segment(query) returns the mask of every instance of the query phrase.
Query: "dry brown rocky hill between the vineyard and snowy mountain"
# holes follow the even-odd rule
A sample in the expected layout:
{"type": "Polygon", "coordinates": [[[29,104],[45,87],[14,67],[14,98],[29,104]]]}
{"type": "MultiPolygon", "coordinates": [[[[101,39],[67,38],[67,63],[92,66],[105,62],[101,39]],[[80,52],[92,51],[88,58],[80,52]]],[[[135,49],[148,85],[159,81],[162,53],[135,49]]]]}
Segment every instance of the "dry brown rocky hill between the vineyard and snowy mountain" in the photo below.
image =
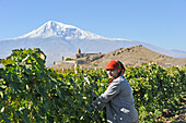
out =
{"type": "MultiPolygon", "coordinates": [[[[119,60],[125,66],[138,66],[143,63],[154,62],[161,66],[183,66],[186,64],[186,58],[175,59],[167,57],[158,52],[154,52],[141,45],[119,48],[108,53],[95,53],[92,56],[84,56],[82,58],[75,59],[78,62],[82,62],[79,65],[82,67],[100,67],[105,69],[106,64],[111,60],[119,60]]],[[[77,63],[78,63],[77,62],[77,63]]],[[[67,69],[73,67],[73,64],[57,64],[53,65],[54,69],[67,69]]]]}

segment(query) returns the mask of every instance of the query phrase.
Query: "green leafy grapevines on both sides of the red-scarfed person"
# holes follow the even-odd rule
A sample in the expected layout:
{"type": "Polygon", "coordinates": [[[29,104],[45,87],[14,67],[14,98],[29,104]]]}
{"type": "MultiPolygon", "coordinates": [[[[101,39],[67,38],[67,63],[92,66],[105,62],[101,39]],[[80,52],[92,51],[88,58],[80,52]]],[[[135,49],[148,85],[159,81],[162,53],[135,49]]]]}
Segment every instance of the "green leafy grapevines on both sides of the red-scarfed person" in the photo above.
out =
{"type": "MultiPolygon", "coordinates": [[[[0,122],[105,122],[91,102],[108,86],[105,70],[77,67],[65,72],[45,66],[40,49],[13,50],[0,61],[0,122]]],[[[141,122],[175,112],[186,90],[186,69],[158,64],[127,67],[141,122]]]]}

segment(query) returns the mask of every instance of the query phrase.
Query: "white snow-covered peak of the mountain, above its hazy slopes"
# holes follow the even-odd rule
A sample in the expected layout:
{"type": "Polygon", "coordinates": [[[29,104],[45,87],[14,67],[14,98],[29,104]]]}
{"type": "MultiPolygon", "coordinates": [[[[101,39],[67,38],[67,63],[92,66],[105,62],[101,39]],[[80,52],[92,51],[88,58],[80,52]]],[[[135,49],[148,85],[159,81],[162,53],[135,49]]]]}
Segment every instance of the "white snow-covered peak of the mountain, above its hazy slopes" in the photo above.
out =
{"type": "Polygon", "coordinates": [[[55,21],[48,21],[37,29],[34,29],[31,33],[20,36],[18,38],[48,37],[61,37],[63,39],[105,39],[102,36],[80,29],[75,26],[67,25],[55,21]]]}

